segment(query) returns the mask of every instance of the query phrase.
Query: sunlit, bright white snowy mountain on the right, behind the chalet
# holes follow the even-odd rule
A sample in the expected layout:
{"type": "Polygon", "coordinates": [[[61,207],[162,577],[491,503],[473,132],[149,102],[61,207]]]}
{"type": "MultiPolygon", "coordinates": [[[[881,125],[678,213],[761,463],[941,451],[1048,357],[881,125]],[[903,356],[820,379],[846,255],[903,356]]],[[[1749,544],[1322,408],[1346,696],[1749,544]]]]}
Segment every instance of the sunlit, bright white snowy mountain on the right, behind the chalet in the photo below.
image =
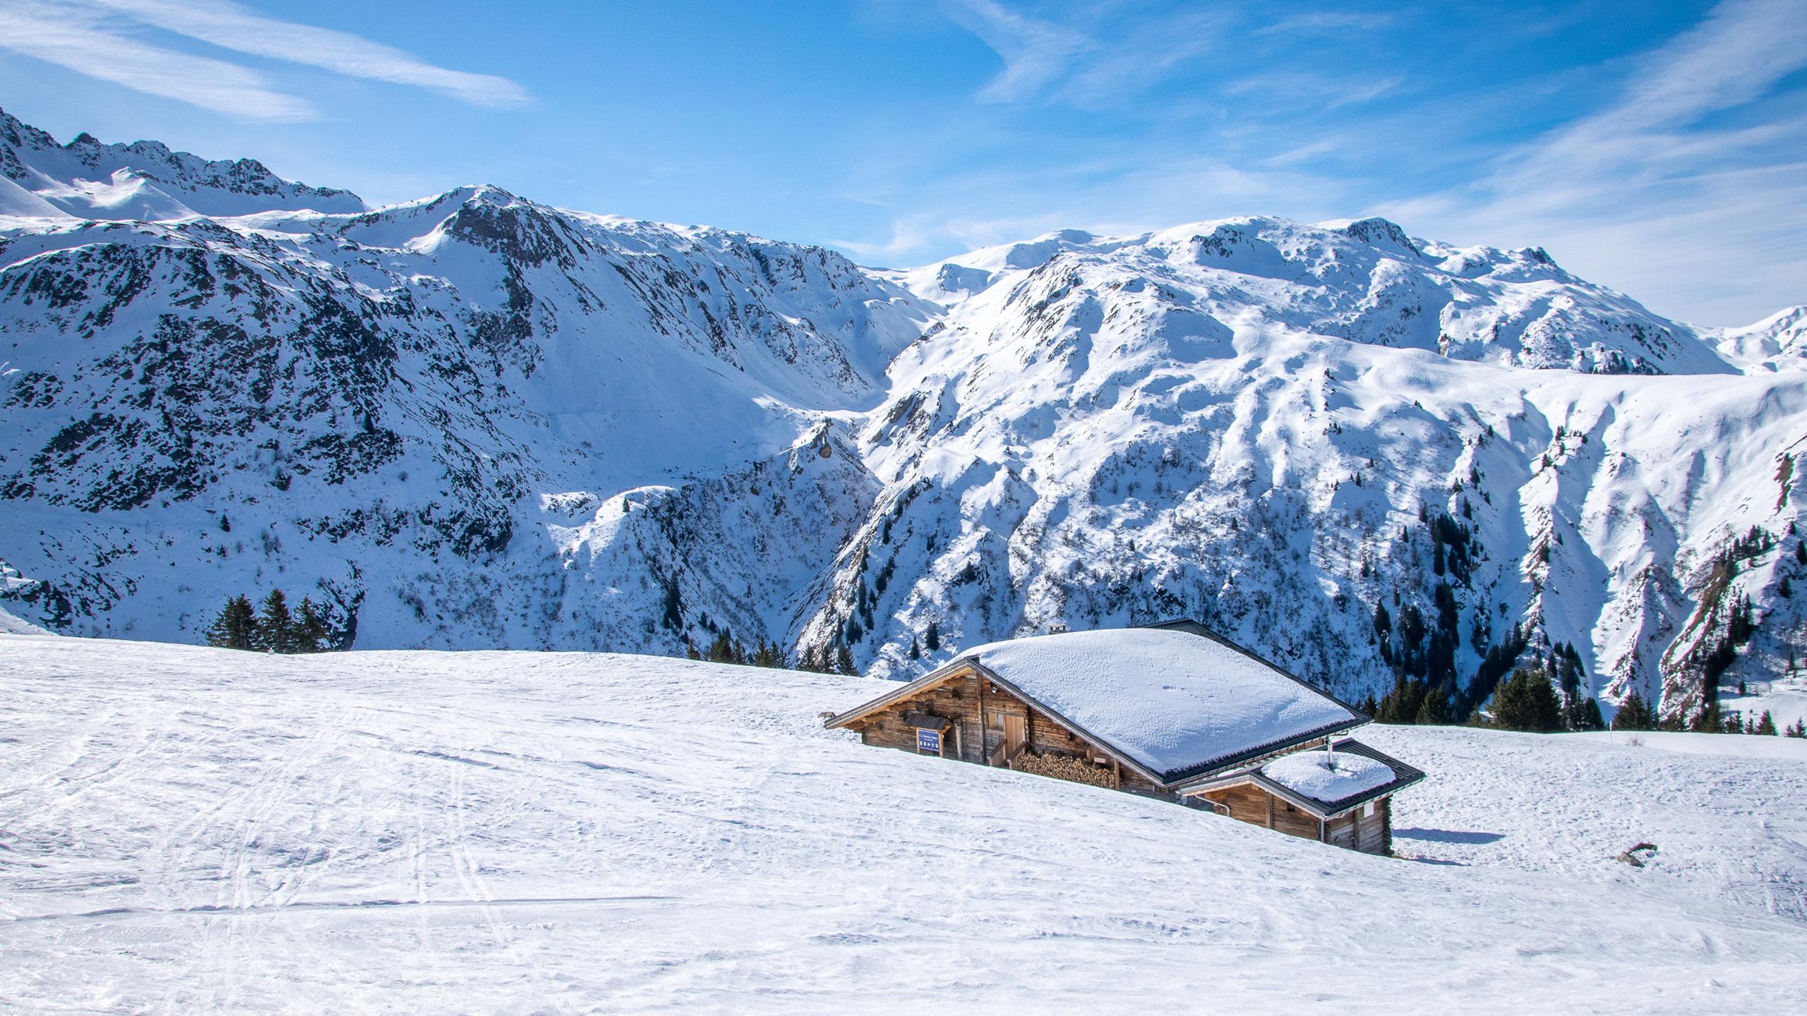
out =
{"type": "Polygon", "coordinates": [[[1740,597],[1762,620],[1727,680],[1802,644],[1807,387],[1541,251],[1236,219],[896,277],[954,304],[893,363],[866,430],[887,486],[810,629],[889,569],[866,613],[911,624],[878,673],[929,620],[960,645],[1189,615],[1357,698],[1402,658],[1384,606],[1433,629],[1408,667],[1433,682],[1437,638],[1460,687],[1527,635],[1576,645],[1585,694],[1684,714],[1740,597]]]}

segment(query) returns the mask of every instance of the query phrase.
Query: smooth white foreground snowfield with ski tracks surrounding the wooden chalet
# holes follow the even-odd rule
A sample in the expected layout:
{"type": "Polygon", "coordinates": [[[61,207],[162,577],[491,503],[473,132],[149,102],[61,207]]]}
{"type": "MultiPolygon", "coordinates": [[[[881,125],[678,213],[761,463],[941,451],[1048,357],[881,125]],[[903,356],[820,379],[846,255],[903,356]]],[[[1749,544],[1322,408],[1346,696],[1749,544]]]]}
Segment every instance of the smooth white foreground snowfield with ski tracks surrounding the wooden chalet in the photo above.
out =
{"type": "Polygon", "coordinates": [[[1717,898],[1798,904],[1802,797],[1709,756],[1388,730],[1433,770],[1409,862],[820,729],[882,687],[0,636],[0,1007],[1646,1014],[1807,983],[1798,909],[1717,898]],[[1635,837],[1650,868],[1610,861],[1635,837]]]}

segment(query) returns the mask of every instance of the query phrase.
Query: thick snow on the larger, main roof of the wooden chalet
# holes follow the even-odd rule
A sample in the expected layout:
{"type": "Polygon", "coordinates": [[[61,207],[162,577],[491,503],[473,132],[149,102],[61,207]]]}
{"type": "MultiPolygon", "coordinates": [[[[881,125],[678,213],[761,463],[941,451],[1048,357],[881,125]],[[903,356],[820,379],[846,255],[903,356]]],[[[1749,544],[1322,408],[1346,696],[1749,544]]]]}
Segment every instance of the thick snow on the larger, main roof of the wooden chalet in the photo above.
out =
{"type": "Polygon", "coordinates": [[[1362,723],[1325,692],[1216,636],[1126,627],[961,653],[1160,776],[1362,723]]]}

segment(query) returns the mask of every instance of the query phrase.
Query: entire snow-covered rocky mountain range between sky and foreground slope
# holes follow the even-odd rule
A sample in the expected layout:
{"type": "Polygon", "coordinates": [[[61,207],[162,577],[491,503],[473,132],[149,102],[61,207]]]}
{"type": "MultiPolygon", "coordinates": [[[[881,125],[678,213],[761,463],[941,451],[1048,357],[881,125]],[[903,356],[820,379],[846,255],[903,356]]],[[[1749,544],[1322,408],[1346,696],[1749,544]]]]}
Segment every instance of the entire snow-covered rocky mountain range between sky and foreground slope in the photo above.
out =
{"type": "Polygon", "coordinates": [[[280,586],[360,647],[905,676],[1196,615],[1344,694],[1572,644],[1673,712],[1807,649],[1800,311],[1697,329],[1381,219],[880,271],[9,118],[0,168],[0,606],[56,631],[280,586]]]}

